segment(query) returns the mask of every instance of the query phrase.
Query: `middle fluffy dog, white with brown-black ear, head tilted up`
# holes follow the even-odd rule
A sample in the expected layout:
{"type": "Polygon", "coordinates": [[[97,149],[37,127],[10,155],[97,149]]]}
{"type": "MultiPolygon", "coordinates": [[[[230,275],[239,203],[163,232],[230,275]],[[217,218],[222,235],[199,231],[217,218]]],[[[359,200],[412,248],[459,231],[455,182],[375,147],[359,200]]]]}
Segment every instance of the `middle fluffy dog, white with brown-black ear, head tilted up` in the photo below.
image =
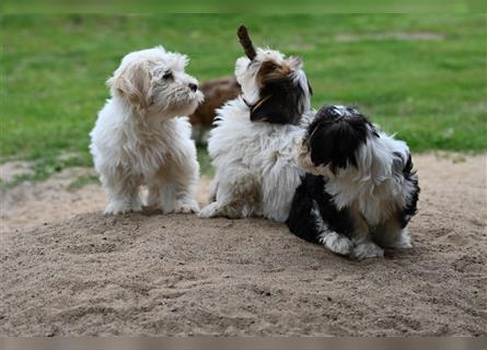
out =
{"type": "MultiPolygon", "coordinates": [[[[241,42],[236,60],[242,95],[218,110],[208,150],[216,176],[200,217],[265,217],[283,222],[303,171],[293,149],[310,110],[310,86],[298,58],[241,42]]],[[[245,32],[246,34],[246,32],[245,32]]],[[[243,37],[244,36],[244,37],[243,37]]]]}

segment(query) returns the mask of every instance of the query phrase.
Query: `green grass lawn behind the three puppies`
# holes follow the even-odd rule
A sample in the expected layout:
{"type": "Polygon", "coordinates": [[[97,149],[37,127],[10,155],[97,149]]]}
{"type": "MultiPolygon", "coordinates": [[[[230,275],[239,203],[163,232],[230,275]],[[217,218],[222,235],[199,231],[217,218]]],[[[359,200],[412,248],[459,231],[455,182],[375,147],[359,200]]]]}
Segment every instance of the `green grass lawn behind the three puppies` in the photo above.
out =
{"type": "Polygon", "coordinates": [[[37,160],[37,178],[91,165],[88,133],[126,52],[163,44],[200,81],[229,75],[242,22],[304,59],[314,107],[358,104],[417,152],[487,149],[485,14],[3,15],[0,162],[37,160]]]}

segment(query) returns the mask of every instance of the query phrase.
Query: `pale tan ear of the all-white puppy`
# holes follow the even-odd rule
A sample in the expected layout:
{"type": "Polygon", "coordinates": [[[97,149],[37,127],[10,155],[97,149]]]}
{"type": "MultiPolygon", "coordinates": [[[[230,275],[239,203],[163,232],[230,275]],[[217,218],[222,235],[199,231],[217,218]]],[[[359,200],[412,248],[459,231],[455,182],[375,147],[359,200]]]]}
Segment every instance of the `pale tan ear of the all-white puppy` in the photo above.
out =
{"type": "Polygon", "coordinates": [[[131,62],[108,79],[112,94],[119,94],[139,109],[150,105],[151,71],[147,62],[131,62]]]}

